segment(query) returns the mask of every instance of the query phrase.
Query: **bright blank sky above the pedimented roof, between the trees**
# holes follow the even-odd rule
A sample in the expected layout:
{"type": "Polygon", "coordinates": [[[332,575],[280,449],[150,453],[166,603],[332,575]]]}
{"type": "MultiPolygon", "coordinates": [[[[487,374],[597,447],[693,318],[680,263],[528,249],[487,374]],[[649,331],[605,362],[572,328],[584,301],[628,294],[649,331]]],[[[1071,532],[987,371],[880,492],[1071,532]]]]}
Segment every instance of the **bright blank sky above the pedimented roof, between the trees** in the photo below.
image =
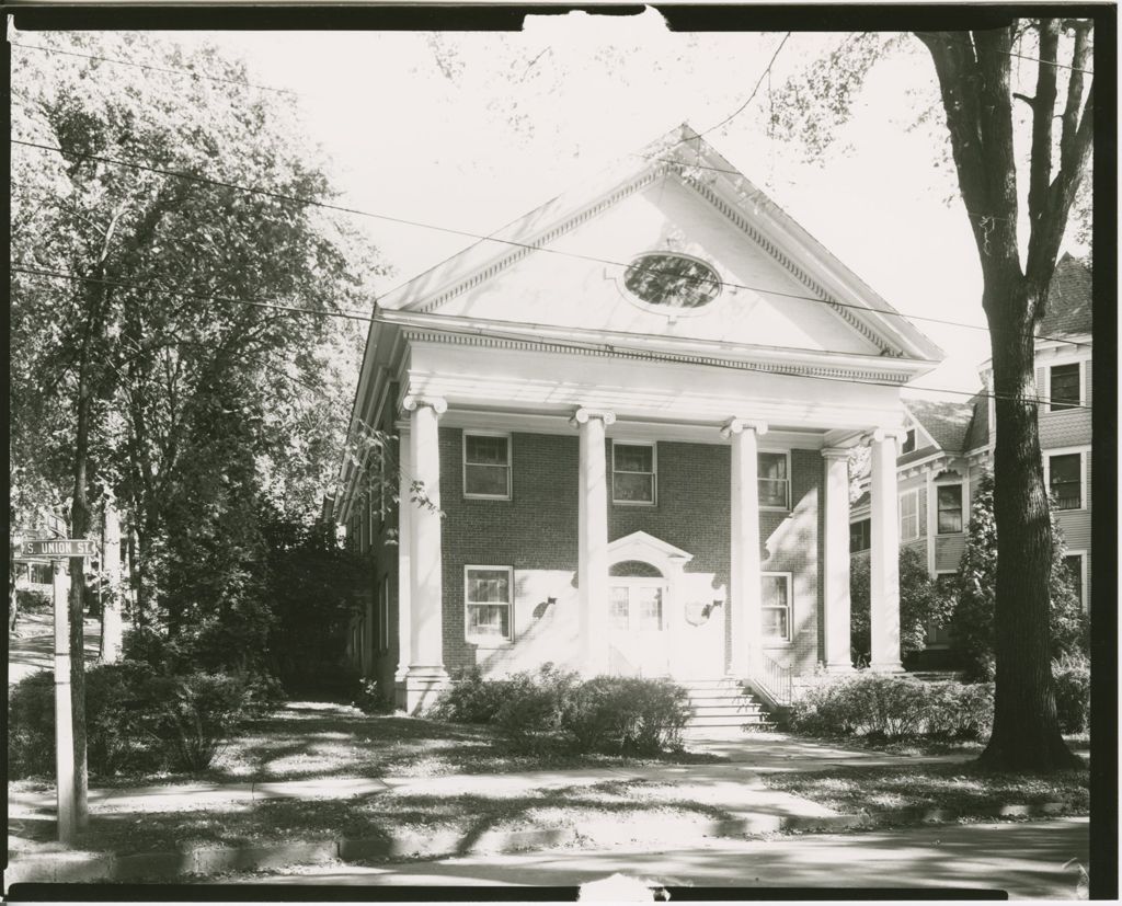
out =
{"type": "MultiPolygon", "coordinates": [[[[296,93],[339,204],[486,234],[689,122],[898,311],[984,325],[977,251],[937,165],[941,122],[910,128],[937,96],[926,50],[909,39],[910,52],[874,66],[836,141],[808,159],[769,135],[769,110],[843,36],[784,34],[673,34],[647,9],[532,16],[521,33],[176,37],[213,41],[247,62],[251,82],[296,93]]],[[[379,293],[471,242],[356,222],[390,267],[379,293]]],[[[947,359],[914,386],[976,389],[987,333],[916,325],[947,359]]]]}

